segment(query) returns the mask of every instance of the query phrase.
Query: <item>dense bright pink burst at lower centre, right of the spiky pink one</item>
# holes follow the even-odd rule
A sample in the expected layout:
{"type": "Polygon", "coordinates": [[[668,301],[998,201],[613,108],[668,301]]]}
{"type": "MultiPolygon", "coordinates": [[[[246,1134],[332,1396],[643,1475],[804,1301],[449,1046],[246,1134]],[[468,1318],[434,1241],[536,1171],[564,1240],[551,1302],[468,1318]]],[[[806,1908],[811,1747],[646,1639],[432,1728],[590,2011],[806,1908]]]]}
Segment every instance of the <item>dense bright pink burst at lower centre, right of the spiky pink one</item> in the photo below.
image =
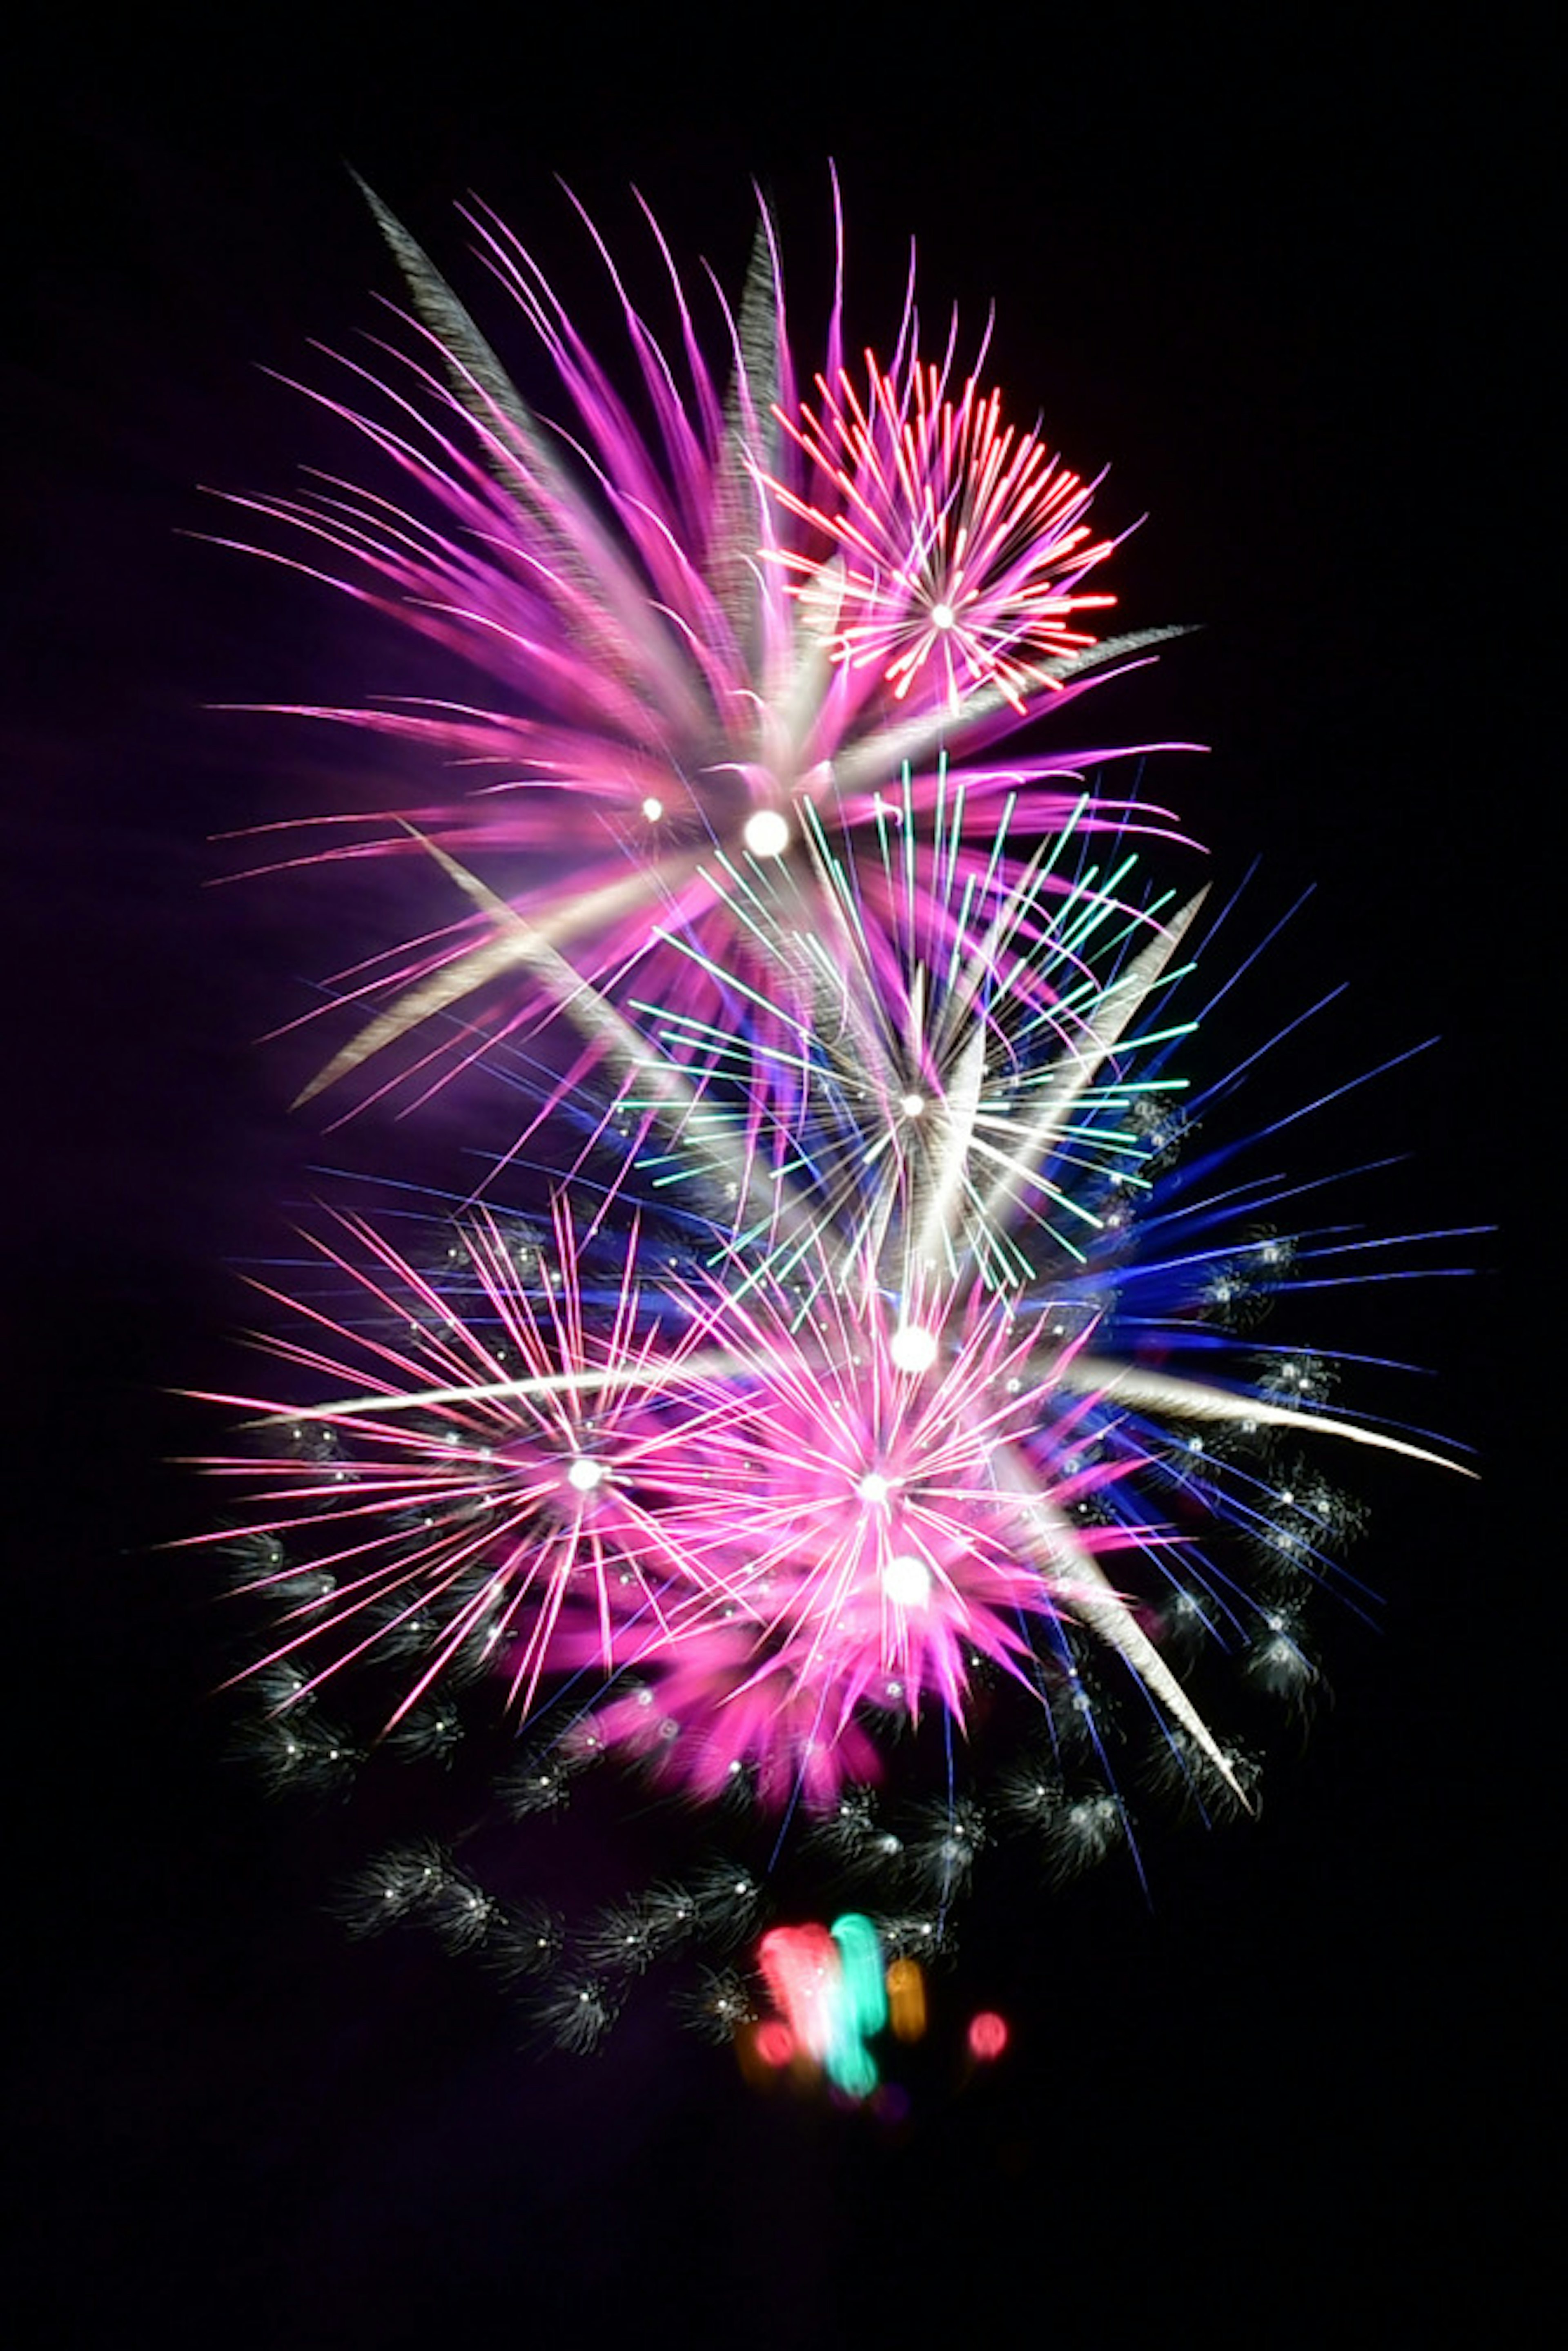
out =
{"type": "Polygon", "coordinates": [[[588,1737],[705,1799],[748,1770],[764,1803],[823,1810],[882,1777],[875,1721],[961,1726],[987,1665],[1041,1697],[1041,1627],[1121,1606],[1098,1559],[1131,1538],[1070,1514],[1133,1458],[1070,1465],[1088,1404],[1065,1352],[980,1293],[903,1312],[867,1265],[809,1310],[731,1293],[719,1333],[736,1411],[710,1413],[672,1509],[703,1606],[623,1648],[637,1686],[588,1737]]]}

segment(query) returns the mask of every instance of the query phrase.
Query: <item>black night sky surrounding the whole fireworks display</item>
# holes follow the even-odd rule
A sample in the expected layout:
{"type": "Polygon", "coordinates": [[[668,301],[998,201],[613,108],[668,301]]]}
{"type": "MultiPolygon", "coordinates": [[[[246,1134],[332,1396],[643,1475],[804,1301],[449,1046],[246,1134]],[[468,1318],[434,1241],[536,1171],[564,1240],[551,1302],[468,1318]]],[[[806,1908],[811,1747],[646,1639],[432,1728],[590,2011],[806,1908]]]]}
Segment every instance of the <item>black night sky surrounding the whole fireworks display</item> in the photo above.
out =
{"type": "Polygon", "coordinates": [[[475,188],[592,327],[552,172],[616,254],[635,179],[731,287],[757,174],[804,334],[832,153],[858,331],[884,331],[910,233],[936,303],[994,296],[1013,407],[1114,461],[1112,520],[1150,513],[1126,623],[1204,623],[1117,722],[1213,743],[1159,785],[1225,879],[1260,853],[1260,905],[1319,884],[1246,1016],[1349,983],[1291,1093],[1443,1037],[1309,1164],[1413,1152],[1366,1199],[1389,1230],[1521,1192],[1542,1213],[1495,1072],[1540,846],[1493,632],[1535,597],[1512,536],[1530,38],[1502,12],[1439,49],[1403,14],[1326,45],[1305,14],[1220,35],[1166,12],[1152,47],[1051,9],[877,35],[649,12],[630,40],[592,9],[259,14],[176,45],[80,19],[24,75],[7,1876],[40,1961],[12,2008],[35,2339],[1133,2342],[1164,2311],[1178,2342],[1420,2342],[1519,2290],[1497,2020],[1530,2005],[1544,1876],[1519,1834],[1544,1561],[1500,1531],[1502,1241],[1460,1244],[1479,1281],[1347,1310],[1434,1366],[1389,1404],[1481,1446],[1486,1491],[1356,1472],[1387,1629],[1326,1613],[1335,1704],[1281,1742],[1262,1824],[1157,1838],[1152,1911],[1107,1876],[983,1937],[966,1982],[1016,2052],[903,2144],[750,2099],[658,2012],[597,2064],[538,2064],[454,1963],[343,1944],[322,1900],[353,1838],[223,1763],[205,1570],[150,1552],[207,1509],[162,1467],[205,1427],[165,1389],[233,1373],[223,1260],[277,1246],[320,1154],[294,1063],[254,1039],[331,962],[331,898],[202,889],[228,870],[209,835],[315,806],[320,773],[205,705],[383,672],[331,600],[181,534],[212,527],[202,482],[341,456],[259,362],[310,371],[310,336],[348,343],[395,292],[343,165],[477,294],[449,209],[475,188]]]}

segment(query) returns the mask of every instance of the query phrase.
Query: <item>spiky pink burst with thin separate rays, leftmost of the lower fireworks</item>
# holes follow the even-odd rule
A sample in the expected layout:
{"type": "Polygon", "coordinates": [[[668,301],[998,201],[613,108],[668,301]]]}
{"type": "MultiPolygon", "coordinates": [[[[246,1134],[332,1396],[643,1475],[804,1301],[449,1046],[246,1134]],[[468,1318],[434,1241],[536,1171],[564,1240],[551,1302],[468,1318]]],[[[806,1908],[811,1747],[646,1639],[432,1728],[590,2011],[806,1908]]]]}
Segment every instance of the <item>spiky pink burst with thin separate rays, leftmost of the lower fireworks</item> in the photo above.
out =
{"type": "MultiPolygon", "coordinates": [[[[280,1300],[320,1335],[263,1342],[327,1380],[334,1401],[292,1413],[266,1396],[212,1399],[261,1413],[287,1444],[282,1458],[207,1465],[261,1493],[247,1531],[287,1540],[310,1528],[315,1568],[329,1578],[324,1599],[289,1608],[261,1667],[303,1660],[317,1686],[357,1657],[397,1653],[411,1629],[425,1662],[397,1721],[475,1660],[503,1667],[527,1712],[541,1676],[564,1662],[567,1599],[578,1615],[588,1606],[604,1672],[625,1662],[621,1627],[646,1615],[668,1639],[668,1601],[689,1578],[661,1498],[689,1476],[682,1451],[724,1396],[701,1387],[698,1321],[672,1340],[639,1326],[637,1232],[590,1324],[581,1239],[559,1201],[552,1253],[522,1244],[531,1274],[494,1218],[465,1230],[477,1291],[468,1314],[371,1225],[341,1227],[353,1255],[336,1241],[315,1248],[350,1302],[324,1312],[280,1300]],[[672,1420],[661,1399],[675,1389],[684,1413],[672,1420]]],[[[261,1578],[261,1589],[268,1582],[287,1596],[287,1573],[261,1578]]]]}

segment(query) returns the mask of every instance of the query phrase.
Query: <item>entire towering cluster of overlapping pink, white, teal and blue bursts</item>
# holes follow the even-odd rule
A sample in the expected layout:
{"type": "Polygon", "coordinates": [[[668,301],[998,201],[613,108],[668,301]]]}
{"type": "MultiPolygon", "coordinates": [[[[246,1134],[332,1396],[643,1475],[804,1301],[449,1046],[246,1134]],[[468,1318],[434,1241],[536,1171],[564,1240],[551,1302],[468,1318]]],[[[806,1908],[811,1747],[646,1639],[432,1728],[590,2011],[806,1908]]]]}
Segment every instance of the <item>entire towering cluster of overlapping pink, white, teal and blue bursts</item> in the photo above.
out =
{"type": "MultiPolygon", "coordinates": [[[[543,426],[374,209],[414,315],[327,404],[409,505],[244,503],[473,682],[306,715],[475,783],[303,851],[463,907],[336,990],[355,1025],[306,1093],[484,1060],[531,1100],[477,1197],[320,1225],[310,1277],[263,1286],[289,1375],[216,1399],[247,1415],[214,1540],[275,1608],[273,1761],[348,1754],[310,1726],[350,1669],[393,1674],[376,1728],[414,1749],[477,1686],[524,1737],[515,1810],[621,1759],[773,1857],[863,1864],[882,1949],[933,1949],[1001,1827],[1053,1871],[1126,1838],[1107,1674],[1201,1808],[1251,1806],[1194,1653],[1302,1697],[1354,1519],[1312,1448],[1441,1455],[1246,1331],[1382,1244],[1281,1232],[1314,1187],[1197,1147],[1215,924],[1145,879],[1166,811],[1088,788],[1126,752],[999,755],[1164,632],[1084,628],[1112,602],[1093,484],[1006,423],[957,324],[926,355],[910,284],[891,360],[851,364],[835,296],[802,395],[766,221],[724,379],[672,263],[679,369],[616,275],[646,440],[477,216],[569,395],[543,426]],[[545,1027],[574,1041],[531,1063],[545,1027]]],[[[762,1878],[722,1862],[592,1923],[548,2029],[592,2045],[628,1970],[736,1942],[762,1878]]],[[[364,1881],[360,1923],[402,1916],[559,1956],[433,1846],[364,1881]]],[[[701,2022],[750,1998],[710,1972],[701,2022]]]]}

